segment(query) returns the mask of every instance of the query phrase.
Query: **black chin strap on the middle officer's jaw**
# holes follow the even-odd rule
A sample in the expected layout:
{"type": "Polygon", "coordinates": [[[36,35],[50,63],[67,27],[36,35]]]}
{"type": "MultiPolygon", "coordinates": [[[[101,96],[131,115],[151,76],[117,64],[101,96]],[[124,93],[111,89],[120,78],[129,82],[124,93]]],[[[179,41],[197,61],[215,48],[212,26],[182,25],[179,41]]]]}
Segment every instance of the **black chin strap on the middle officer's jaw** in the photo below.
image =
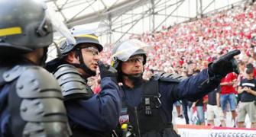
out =
{"type": "Polygon", "coordinates": [[[82,55],[81,49],[76,49],[76,53],[78,54],[80,64],[73,64],[73,65],[75,65],[77,68],[83,69],[83,71],[86,72],[88,77],[95,76],[96,72],[89,69],[86,63],[83,61],[83,55],[82,55]]]}

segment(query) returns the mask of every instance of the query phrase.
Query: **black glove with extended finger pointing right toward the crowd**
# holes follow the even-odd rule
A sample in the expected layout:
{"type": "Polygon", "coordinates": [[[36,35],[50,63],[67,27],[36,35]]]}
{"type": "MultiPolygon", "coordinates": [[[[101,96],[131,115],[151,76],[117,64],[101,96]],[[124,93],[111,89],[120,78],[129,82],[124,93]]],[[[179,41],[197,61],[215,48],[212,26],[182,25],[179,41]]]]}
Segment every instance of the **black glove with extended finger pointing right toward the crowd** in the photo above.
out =
{"type": "Polygon", "coordinates": [[[219,57],[214,62],[208,65],[210,78],[224,78],[230,72],[239,74],[238,62],[234,59],[234,56],[240,54],[240,50],[235,49],[226,53],[224,56],[219,57]]]}

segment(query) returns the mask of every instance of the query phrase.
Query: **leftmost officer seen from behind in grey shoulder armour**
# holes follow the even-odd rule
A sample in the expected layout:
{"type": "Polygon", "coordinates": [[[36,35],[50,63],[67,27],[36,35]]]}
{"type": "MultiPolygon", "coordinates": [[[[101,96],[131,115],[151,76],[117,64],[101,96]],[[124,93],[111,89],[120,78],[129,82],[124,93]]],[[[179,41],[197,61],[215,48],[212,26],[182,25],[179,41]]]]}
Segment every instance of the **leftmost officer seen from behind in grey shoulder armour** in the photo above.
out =
{"type": "Polygon", "coordinates": [[[43,2],[0,2],[0,136],[70,136],[57,80],[40,65],[53,42],[43,2]]]}

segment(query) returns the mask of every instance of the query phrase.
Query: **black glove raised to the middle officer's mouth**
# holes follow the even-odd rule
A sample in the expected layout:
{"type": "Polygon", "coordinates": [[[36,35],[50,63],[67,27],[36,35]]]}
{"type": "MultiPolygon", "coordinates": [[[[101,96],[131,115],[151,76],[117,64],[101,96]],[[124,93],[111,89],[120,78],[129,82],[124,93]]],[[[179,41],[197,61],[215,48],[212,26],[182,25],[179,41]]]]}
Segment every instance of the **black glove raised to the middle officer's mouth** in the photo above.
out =
{"type": "Polygon", "coordinates": [[[104,65],[102,61],[98,61],[100,78],[112,77],[117,78],[118,71],[110,65],[104,65]]]}

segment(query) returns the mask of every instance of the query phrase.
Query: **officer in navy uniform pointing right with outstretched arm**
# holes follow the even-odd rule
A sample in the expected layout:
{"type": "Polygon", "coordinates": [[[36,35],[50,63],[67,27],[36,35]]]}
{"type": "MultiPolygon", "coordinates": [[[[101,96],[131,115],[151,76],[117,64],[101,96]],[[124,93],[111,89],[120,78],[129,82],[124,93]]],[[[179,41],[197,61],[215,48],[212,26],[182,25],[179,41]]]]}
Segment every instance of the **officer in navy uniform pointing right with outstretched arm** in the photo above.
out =
{"type": "Polygon", "coordinates": [[[118,70],[118,81],[123,83],[120,122],[126,136],[179,136],[173,131],[173,102],[196,101],[215,89],[228,72],[238,73],[233,56],[240,51],[235,50],[212,62],[196,76],[183,78],[163,73],[144,81],[142,73],[147,56],[141,45],[138,40],[127,40],[112,50],[112,65],[118,70]],[[128,129],[124,124],[130,125],[126,126],[128,129]]]}

